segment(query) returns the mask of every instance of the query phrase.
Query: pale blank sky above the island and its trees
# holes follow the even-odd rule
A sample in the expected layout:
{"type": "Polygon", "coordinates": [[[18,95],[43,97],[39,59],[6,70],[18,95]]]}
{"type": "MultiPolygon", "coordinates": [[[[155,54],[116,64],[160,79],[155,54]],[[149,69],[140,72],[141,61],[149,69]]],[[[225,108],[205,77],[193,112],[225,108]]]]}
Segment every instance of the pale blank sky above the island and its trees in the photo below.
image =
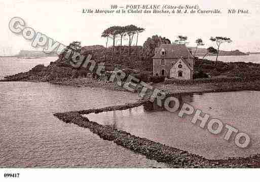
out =
{"type": "MultiPolygon", "coordinates": [[[[113,25],[134,24],[145,28],[138,37],[142,45],[148,37],[158,34],[171,41],[177,35],[188,37],[188,46],[195,46],[201,38],[207,48],[215,46],[210,37],[229,37],[232,43],[221,45],[221,50],[260,52],[260,2],[248,1],[209,1],[209,0],[170,0],[170,1],[89,1],[89,0],[0,0],[1,29],[0,55],[16,54],[20,50],[36,50],[31,42],[21,34],[9,29],[13,17],[21,17],[26,26],[42,32],[64,45],[81,41],[83,46],[105,45],[102,31],[113,25]],[[83,9],[110,10],[111,5],[199,5],[201,9],[220,9],[220,15],[174,15],[174,14],[83,14],[83,9]],[[228,9],[248,9],[250,14],[228,14],[228,9]]],[[[112,42],[109,42],[111,45],[112,42]]],[[[123,44],[127,44],[127,40],[123,44]]],[[[42,50],[38,48],[38,50],[42,50]]]]}

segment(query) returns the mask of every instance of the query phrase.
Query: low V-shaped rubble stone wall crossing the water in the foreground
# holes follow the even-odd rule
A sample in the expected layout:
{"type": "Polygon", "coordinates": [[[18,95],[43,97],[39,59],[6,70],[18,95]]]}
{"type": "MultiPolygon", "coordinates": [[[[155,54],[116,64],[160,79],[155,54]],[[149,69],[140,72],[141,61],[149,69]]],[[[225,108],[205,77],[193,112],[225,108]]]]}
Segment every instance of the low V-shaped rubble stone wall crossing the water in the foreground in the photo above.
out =
{"type": "Polygon", "coordinates": [[[260,155],[254,155],[247,158],[229,158],[227,160],[209,160],[199,155],[169,147],[165,144],[155,142],[147,138],[137,137],[126,131],[117,130],[110,126],[104,126],[96,122],[89,121],[87,117],[82,116],[83,114],[90,113],[126,110],[128,108],[140,106],[144,103],[145,101],[97,109],[93,108],[83,111],[56,113],[54,116],[66,123],[73,123],[80,127],[88,128],[102,139],[114,141],[126,149],[146,156],[148,159],[167,163],[170,167],[174,168],[260,167],[260,155]]]}

